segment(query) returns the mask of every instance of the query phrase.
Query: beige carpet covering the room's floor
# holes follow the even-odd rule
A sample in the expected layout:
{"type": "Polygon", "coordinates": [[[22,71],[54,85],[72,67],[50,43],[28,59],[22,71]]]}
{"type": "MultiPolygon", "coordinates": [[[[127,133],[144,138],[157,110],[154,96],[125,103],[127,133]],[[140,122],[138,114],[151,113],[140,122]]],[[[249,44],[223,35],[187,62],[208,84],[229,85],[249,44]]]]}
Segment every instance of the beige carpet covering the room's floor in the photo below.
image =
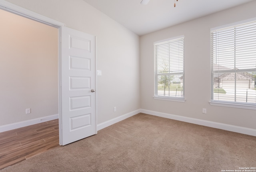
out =
{"type": "Polygon", "coordinates": [[[137,114],[2,171],[222,172],[255,166],[254,136],[137,114]]]}

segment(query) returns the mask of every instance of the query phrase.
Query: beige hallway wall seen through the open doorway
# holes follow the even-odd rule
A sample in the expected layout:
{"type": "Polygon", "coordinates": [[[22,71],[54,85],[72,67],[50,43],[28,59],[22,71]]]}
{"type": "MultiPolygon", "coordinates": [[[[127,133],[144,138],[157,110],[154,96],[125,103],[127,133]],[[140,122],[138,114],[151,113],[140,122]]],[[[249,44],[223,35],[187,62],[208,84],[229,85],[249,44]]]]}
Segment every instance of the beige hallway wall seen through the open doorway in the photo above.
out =
{"type": "Polygon", "coordinates": [[[0,126],[58,114],[58,29],[4,10],[0,22],[0,126]]]}

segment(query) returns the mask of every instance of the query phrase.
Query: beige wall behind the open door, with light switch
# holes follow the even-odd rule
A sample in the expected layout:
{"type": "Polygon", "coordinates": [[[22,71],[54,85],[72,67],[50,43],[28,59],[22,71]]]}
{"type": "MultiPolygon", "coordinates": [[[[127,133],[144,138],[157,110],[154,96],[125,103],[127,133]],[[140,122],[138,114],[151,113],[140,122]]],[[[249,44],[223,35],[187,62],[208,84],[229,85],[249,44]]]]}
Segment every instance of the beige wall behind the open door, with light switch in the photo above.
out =
{"type": "Polygon", "coordinates": [[[139,36],[82,0],[7,1],[97,36],[97,68],[102,70],[96,90],[98,124],[140,108],[139,36]]]}

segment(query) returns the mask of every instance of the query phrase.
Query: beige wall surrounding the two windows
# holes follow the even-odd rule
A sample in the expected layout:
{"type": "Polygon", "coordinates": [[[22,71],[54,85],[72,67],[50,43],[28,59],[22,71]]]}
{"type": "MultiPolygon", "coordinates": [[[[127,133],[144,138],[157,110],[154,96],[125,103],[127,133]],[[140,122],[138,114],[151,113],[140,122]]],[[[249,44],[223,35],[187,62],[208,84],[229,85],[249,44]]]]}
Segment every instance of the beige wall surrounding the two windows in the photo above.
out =
{"type": "MultiPolygon", "coordinates": [[[[255,110],[211,106],[210,28],[256,17],[256,1],[140,38],[141,108],[256,129],[255,110]],[[184,35],[186,102],[154,100],[154,49],[159,40],[184,35]],[[202,108],[207,114],[202,114],[202,108]]],[[[174,16],[175,17],[175,16],[174,16]]]]}

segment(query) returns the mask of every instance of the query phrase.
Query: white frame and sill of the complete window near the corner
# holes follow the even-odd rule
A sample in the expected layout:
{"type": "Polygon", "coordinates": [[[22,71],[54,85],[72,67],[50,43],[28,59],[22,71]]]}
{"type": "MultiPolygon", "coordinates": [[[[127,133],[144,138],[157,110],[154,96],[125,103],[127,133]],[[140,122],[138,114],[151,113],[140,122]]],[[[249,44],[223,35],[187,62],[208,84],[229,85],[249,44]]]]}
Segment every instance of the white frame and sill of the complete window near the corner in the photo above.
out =
{"type": "MultiPolygon", "coordinates": [[[[154,42],[154,96],[153,98],[155,100],[167,100],[167,101],[174,101],[174,102],[185,102],[185,51],[184,51],[184,47],[185,47],[185,38],[184,35],[182,36],[176,36],[173,38],[168,38],[165,40],[160,40],[157,42],[154,42]],[[183,71],[182,71],[182,82],[183,82],[183,96],[182,97],[175,97],[175,96],[159,96],[158,95],[158,74],[156,71],[156,60],[157,60],[157,56],[156,56],[156,44],[160,44],[160,43],[164,43],[164,42],[172,42],[175,40],[179,40],[179,39],[183,39],[183,71]]],[[[175,74],[175,73],[174,73],[175,74]]]]}

